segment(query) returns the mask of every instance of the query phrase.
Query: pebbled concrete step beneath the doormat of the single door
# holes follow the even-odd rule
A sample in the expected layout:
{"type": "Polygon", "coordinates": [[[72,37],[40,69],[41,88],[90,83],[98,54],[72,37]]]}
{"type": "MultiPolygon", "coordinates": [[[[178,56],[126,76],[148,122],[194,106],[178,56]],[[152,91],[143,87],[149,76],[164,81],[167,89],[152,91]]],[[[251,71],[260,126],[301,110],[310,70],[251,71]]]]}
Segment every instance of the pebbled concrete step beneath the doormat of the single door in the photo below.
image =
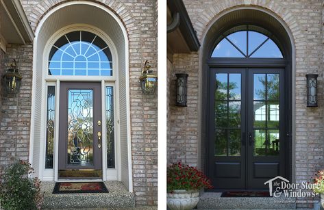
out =
{"type": "Polygon", "coordinates": [[[119,181],[107,181],[109,193],[52,194],[55,182],[42,182],[42,209],[133,208],[135,197],[119,181]]]}

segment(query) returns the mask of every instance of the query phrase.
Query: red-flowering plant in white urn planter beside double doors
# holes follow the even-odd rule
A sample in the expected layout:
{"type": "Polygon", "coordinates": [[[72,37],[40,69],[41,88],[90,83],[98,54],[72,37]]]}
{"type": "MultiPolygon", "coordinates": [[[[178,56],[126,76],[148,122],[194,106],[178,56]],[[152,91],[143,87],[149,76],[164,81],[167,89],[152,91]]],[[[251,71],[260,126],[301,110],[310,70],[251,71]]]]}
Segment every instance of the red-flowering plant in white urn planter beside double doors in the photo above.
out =
{"type": "Polygon", "coordinates": [[[199,202],[199,190],[212,185],[203,172],[195,167],[173,163],[167,168],[167,200],[171,210],[189,210],[199,202]]]}

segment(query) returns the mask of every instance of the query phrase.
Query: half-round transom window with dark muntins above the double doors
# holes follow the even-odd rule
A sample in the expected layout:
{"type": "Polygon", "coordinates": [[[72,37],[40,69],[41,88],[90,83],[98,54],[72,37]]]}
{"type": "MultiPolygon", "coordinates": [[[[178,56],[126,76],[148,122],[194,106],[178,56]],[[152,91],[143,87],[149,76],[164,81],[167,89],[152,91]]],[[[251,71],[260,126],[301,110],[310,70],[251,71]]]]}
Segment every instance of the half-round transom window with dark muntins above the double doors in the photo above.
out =
{"type": "Polygon", "coordinates": [[[211,57],[283,58],[275,36],[255,25],[240,25],[216,40],[211,57]]]}

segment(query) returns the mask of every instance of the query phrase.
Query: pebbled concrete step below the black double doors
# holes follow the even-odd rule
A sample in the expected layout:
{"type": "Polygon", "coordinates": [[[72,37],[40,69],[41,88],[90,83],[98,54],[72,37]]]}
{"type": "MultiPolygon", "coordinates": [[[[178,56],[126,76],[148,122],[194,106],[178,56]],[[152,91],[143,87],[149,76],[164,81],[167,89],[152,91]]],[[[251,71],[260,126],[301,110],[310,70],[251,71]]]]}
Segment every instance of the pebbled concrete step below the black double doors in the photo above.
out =
{"type": "Polygon", "coordinates": [[[221,197],[219,192],[201,195],[197,209],[296,209],[295,198],[221,197]]]}

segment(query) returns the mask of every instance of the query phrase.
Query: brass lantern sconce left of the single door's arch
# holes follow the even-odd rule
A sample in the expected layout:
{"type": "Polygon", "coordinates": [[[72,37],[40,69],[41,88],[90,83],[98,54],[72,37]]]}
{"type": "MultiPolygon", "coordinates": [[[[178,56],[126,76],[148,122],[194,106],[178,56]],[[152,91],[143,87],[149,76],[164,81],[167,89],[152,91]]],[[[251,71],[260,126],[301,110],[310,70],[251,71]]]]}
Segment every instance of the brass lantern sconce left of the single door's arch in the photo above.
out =
{"type": "Polygon", "coordinates": [[[16,66],[16,60],[13,60],[10,66],[11,68],[6,70],[5,75],[3,75],[3,86],[8,94],[16,94],[21,88],[21,79],[23,77],[21,77],[16,66]]]}

